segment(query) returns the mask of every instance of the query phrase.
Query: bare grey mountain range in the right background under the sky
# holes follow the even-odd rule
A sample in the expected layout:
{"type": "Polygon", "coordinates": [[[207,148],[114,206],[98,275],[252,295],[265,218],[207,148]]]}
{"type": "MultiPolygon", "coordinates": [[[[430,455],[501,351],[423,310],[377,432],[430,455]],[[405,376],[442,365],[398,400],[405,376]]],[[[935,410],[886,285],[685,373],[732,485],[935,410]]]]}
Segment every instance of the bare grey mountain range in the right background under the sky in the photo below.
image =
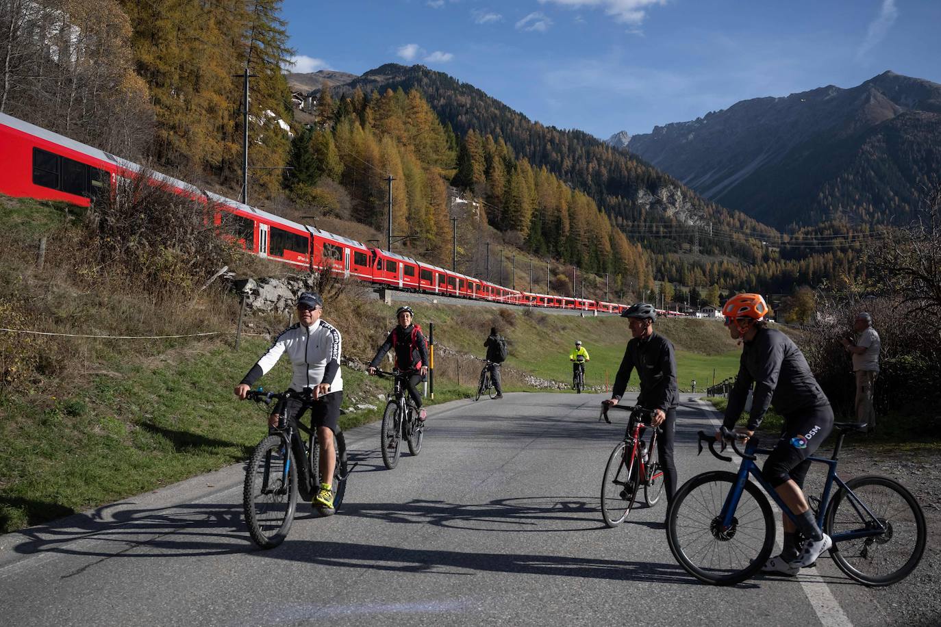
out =
{"type": "Polygon", "coordinates": [[[925,186],[939,182],[939,147],[941,85],[892,71],[848,89],[737,102],[627,145],[702,196],[777,228],[907,223],[925,186]]]}

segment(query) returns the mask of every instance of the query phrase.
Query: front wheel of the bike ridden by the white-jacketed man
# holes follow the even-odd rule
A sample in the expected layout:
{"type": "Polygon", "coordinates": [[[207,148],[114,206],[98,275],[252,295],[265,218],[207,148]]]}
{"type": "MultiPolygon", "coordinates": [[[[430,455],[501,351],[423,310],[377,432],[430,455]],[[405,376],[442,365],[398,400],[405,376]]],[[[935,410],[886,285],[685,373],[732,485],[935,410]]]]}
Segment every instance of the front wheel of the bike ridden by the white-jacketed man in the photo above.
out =
{"type": "Polygon", "coordinates": [[[263,549],[278,546],[291,530],[297,507],[294,454],[280,436],[267,436],[252,451],[242,496],[252,541],[263,549]]]}

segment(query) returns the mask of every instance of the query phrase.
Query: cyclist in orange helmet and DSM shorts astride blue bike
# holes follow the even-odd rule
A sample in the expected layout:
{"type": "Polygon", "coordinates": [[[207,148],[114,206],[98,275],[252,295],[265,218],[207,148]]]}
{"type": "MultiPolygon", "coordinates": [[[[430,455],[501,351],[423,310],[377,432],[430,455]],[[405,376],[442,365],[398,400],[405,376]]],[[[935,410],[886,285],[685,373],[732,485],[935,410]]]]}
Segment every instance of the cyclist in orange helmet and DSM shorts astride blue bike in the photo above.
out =
{"type": "Polygon", "coordinates": [[[737,294],[723,306],[729,335],[732,339],[742,339],[744,345],[739,374],[728,395],[726,419],[716,439],[726,437],[735,426],[753,384],[748,425],[735,431],[743,437],[751,437],[772,403],[784,417],[784,431],[761,468],[761,474],[797,515],[797,527],[788,516],[782,517],[784,550],[769,559],[761,570],[795,575],[833,544],[817,525],[802,491],[810,468],[807,457],[821,446],[833,429],[833,409],[797,345],[782,332],[767,328],[768,312],[768,305],[760,294],[737,294]],[[801,548],[797,546],[797,528],[805,537],[801,548]]]}

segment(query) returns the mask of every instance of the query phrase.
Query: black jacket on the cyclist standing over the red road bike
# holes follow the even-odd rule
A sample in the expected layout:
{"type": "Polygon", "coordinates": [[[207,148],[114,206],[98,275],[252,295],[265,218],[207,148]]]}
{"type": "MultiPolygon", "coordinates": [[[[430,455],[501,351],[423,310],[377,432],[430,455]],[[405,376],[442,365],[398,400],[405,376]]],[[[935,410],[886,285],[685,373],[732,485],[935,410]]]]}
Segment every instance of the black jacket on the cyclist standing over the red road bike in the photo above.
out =
{"type": "Polygon", "coordinates": [[[673,342],[658,333],[646,339],[632,337],[628,348],[617,368],[614,377],[612,398],[620,400],[628,389],[630,370],[637,368],[641,379],[641,394],[638,405],[647,409],[676,409],[679,395],[677,392],[677,359],[674,355],[673,342]]]}

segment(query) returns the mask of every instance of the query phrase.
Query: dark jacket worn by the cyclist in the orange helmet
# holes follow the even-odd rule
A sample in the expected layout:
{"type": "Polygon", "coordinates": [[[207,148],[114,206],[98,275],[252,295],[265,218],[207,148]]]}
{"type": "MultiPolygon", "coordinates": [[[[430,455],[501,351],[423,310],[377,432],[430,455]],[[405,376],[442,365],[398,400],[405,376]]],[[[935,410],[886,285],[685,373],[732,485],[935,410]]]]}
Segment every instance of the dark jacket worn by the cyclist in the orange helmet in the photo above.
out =
{"type": "Polygon", "coordinates": [[[755,339],[744,342],[739,374],[728,395],[723,421],[726,429],[734,427],[742,415],[752,384],[755,384],[755,391],[748,418],[750,431],[758,429],[772,403],[777,413],[785,418],[801,409],[830,404],[807,366],[804,353],[777,329],[758,327],[755,339]]]}

